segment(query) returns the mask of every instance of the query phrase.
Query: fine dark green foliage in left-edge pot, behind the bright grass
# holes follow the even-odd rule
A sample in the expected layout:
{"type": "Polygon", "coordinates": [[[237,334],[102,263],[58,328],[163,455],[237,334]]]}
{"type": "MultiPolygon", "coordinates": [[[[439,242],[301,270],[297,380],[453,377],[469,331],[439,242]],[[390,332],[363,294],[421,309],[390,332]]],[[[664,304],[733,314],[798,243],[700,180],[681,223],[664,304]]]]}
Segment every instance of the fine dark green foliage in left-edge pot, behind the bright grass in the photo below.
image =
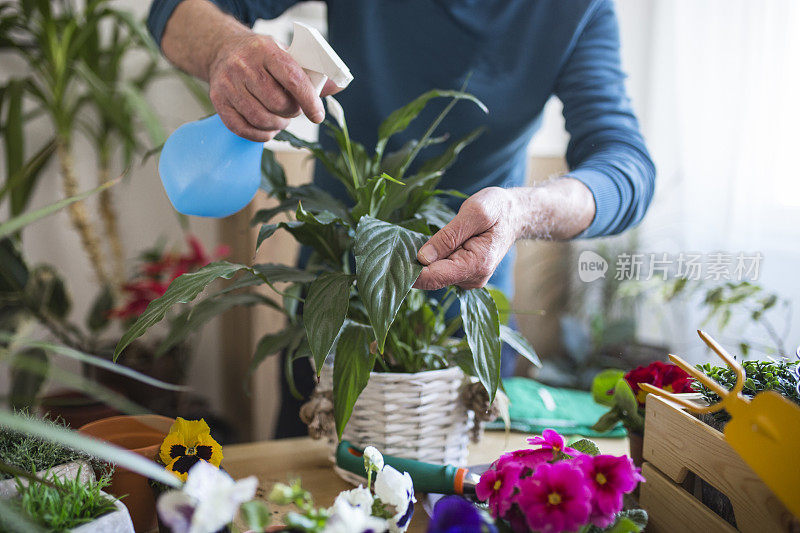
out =
{"type": "MultiPolygon", "coordinates": [[[[23,411],[17,412],[16,416],[29,422],[41,423],[48,428],[66,427],[61,420],[40,419],[23,411]]],[[[90,455],[67,448],[58,442],[0,426],[0,463],[4,465],[26,472],[41,472],[73,461],[86,461],[99,466],[90,455]]],[[[10,477],[12,476],[0,472],[0,479],[10,477]]]]}

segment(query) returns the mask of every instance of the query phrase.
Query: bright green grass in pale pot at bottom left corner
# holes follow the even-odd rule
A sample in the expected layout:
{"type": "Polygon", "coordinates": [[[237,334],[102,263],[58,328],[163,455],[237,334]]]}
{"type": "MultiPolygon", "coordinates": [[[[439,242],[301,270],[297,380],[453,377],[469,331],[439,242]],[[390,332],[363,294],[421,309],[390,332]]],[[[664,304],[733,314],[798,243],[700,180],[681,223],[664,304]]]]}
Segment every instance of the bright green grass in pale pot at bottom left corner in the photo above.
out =
{"type": "Polygon", "coordinates": [[[17,480],[18,495],[12,505],[34,524],[48,531],[134,533],[128,509],[103,492],[109,479],[82,481],[50,476],[23,483],[17,480]]]}

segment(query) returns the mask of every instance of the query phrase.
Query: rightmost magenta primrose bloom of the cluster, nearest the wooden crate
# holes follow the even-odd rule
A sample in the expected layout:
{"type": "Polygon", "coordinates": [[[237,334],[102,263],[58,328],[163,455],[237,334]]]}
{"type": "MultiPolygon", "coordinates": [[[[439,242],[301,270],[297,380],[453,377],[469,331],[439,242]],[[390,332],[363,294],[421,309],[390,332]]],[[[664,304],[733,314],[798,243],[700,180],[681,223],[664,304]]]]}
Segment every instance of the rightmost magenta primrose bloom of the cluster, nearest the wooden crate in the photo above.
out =
{"type": "Polygon", "coordinates": [[[594,498],[591,521],[598,527],[608,527],[614,515],[622,510],[622,496],[633,491],[644,478],[630,457],[623,455],[582,455],[574,463],[583,470],[594,498]]]}

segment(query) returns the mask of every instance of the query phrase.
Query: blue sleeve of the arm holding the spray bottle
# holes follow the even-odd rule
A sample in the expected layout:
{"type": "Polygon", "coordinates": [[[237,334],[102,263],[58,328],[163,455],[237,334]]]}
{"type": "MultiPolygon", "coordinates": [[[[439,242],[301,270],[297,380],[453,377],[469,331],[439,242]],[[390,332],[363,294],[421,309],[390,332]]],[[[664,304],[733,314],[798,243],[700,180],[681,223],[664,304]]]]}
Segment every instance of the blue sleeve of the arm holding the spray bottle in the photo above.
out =
{"type": "MultiPolygon", "coordinates": [[[[153,0],[147,16],[147,28],[161,46],[161,38],[172,12],[183,0],[153,0]]],[[[298,0],[211,0],[222,11],[243,24],[252,26],[256,19],[273,19],[280,16],[298,0]]]]}

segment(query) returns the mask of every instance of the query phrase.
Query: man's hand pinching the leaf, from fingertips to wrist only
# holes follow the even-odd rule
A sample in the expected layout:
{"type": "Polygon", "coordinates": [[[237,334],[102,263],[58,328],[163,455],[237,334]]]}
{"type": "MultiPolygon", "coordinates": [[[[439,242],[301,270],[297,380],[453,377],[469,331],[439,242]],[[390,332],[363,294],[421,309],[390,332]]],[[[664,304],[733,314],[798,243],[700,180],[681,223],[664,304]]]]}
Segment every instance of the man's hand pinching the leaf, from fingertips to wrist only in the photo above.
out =
{"type": "Polygon", "coordinates": [[[521,213],[508,189],[489,187],[467,198],[458,214],[419,250],[423,265],[414,287],[483,287],[517,240],[521,213]]]}

